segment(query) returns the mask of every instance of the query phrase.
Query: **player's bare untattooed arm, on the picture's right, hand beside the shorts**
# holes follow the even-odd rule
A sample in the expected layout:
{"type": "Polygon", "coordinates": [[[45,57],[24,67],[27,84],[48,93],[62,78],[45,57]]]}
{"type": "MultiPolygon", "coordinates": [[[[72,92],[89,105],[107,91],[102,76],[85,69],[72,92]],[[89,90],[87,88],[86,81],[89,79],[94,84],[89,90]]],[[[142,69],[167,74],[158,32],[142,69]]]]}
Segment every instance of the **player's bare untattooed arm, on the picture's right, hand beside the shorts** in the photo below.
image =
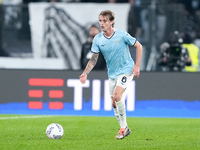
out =
{"type": "Polygon", "coordinates": [[[136,41],[134,44],[134,47],[136,48],[136,63],[134,68],[131,71],[131,74],[134,72],[133,77],[139,77],[140,76],[140,63],[142,60],[142,45],[140,42],[136,41]]]}

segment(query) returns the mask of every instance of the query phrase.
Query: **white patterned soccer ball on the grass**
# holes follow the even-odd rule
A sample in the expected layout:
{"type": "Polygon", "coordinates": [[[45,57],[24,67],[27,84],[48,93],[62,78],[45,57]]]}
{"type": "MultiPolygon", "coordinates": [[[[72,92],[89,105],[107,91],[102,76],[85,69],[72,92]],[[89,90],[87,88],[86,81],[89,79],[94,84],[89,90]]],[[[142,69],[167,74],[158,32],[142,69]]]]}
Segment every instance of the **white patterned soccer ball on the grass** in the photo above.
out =
{"type": "Polygon", "coordinates": [[[58,123],[51,123],[46,129],[46,135],[49,139],[60,139],[63,134],[63,127],[58,123]]]}

